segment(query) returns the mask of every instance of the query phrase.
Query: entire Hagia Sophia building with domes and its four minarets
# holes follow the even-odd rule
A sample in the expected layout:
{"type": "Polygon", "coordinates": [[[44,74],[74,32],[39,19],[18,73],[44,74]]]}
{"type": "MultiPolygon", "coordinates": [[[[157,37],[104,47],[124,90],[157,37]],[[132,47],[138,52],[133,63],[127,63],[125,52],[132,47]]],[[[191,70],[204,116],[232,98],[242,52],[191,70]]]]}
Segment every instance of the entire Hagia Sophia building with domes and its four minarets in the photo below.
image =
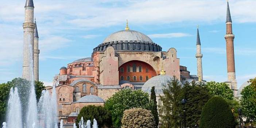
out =
{"type": "MultiPolygon", "coordinates": [[[[23,78],[31,79],[27,68],[30,59],[28,58],[29,51],[26,49],[33,46],[34,79],[38,81],[39,36],[34,22],[33,0],[27,0],[26,7],[28,9],[25,11],[25,23],[23,24],[23,78]]],[[[228,67],[226,83],[230,85],[236,96],[238,89],[234,65],[234,35],[229,3],[225,39],[228,67]]],[[[197,75],[191,75],[186,66],[180,65],[178,51],[175,48],[170,47],[167,51],[162,51],[162,47],[147,35],[131,30],[127,20],[125,29],[106,37],[92,50],[91,57],[68,63],[66,67],[60,68],[58,75],[54,76],[53,86],[56,87],[58,95],[59,120],[62,119],[65,124],[74,123],[81,108],[86,105],[103,106],[109,97],[121,89],[142,89],[150,93],[151,87],[155,86],[156,94],[161,95],[163,85],[173,76],[176,76],[181,84],[186,81],[204,81],[203,55],[198,28],[196,40],[197,75]]],[[[53,86],[47,86],[46,89],[51,91],[53,86]]],[[[161,105],[159,98],[157,100],[161,105]]]]}

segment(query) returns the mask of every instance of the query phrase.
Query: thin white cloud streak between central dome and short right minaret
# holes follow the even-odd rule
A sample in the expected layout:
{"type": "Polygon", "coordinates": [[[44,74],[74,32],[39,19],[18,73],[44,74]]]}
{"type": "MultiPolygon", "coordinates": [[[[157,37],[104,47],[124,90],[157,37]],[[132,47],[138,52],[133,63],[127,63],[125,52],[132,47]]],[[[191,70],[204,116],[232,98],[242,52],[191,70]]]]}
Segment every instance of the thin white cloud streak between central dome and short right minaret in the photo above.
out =
{"type": "Polygon", "coordinates": [[[151,34],[148,36],[150,38],[179,38],[179,37],[185,37],[185,36],[191,36],[191,35],[178,32],[178,33],[166,33],[166,34],[151,34]]]}

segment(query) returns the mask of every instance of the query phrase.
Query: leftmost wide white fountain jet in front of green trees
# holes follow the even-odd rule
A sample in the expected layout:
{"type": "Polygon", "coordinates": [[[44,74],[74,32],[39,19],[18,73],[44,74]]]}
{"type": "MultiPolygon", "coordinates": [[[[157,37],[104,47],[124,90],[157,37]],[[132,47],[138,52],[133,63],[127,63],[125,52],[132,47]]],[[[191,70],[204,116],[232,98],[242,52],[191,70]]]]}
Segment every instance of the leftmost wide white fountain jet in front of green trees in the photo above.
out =
{"type": "MultiPolygon", "coordinates": [[[[10,91],[7,124],[9,128],[22,128],[22,112],[17,88],[14,89],[14,92],[13,88],[10,91]]],[[[4,127],[6,127],[6,124],[4,127]]]]}

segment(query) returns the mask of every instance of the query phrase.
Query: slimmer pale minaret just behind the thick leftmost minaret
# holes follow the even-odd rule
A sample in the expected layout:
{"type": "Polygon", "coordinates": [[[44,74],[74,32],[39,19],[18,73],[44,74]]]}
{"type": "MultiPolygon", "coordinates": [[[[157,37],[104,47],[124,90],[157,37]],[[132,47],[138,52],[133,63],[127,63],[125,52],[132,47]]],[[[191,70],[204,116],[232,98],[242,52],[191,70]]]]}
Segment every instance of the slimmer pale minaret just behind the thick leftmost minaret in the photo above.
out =
{"type": "Polygon", "coordinates": [[[38,31],[35,19],[35,35],[34,35],[34,78],[35,81],[39,81],[39,49],[38,49],[38,31]]]}

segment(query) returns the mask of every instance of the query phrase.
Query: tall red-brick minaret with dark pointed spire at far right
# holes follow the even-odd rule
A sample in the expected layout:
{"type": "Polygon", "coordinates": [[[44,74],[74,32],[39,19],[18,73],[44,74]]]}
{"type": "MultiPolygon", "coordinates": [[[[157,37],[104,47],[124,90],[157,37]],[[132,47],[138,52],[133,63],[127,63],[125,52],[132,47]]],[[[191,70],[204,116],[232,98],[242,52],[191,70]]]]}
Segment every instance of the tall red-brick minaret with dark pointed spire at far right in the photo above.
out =
{"type": "Polygon", "coordinates": [[[226,14],[226,53],[227,53],[227,67],[228,67],[228,81],[231,82],[231,89],[236,95],[237,82],[236,71],[234,63],[234,35],[232,32],[232,20],[229,10],[229,3],[227,2],[227,14],[226,14]]]}

